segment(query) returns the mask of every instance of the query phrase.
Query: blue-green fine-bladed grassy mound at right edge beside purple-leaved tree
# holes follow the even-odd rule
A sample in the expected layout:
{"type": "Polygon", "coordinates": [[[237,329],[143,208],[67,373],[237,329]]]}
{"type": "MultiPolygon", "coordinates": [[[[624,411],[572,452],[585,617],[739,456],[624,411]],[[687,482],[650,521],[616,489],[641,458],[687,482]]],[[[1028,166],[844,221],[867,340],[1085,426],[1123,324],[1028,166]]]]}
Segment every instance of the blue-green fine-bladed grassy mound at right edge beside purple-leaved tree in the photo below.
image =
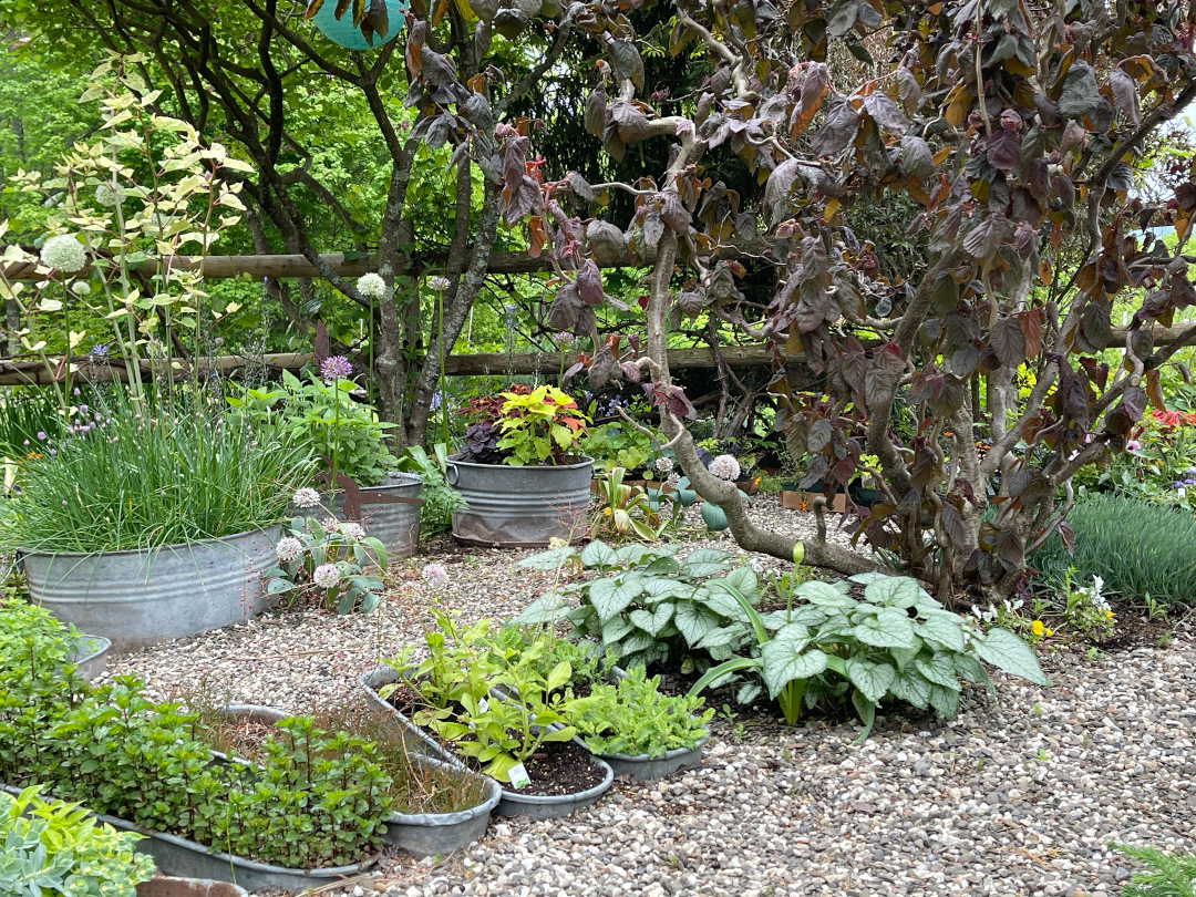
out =
{"type": "Polygon", "coordinates": [[[1030,555],[1037,582],[1060,593],[1067,572],[1104,579],[1105,594],[1165,605],[1196,603],[1196,519],[1171,508],[1121,495],[1093,494],[1067,518],[1075,535],[1068,553],[1058,533],[1030,555]]]}

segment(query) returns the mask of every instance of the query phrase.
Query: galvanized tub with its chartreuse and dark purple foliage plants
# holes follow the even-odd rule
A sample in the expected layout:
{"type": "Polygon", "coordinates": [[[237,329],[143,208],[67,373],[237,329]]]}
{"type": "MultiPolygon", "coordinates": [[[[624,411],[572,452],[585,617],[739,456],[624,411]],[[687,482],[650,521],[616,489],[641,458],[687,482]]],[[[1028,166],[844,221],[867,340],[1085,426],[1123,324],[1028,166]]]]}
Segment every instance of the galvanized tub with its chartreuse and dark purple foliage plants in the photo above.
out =
{"type": "Polygon", "coordinates": [[[576,541],[586,527],[593,460],[581,453],[585,415],[554,386],[513,386],[475,398],[448,483],[466,507],[452,515],[466,544],[537,547],[576,541]]]}

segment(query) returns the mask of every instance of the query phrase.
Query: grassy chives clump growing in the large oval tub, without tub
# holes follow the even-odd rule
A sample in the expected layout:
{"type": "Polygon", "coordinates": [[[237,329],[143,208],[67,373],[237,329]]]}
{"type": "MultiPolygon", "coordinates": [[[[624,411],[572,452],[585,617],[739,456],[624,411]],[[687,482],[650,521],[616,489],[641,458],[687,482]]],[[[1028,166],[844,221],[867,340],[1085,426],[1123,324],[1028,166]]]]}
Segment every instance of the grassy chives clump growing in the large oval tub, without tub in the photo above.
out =
{"type": "Polygon", "coordinates": [[[282,519],[309,453],[206,393],[80,404],[17,472],[0,544],[28,551],[152,549],[282,519]]]}

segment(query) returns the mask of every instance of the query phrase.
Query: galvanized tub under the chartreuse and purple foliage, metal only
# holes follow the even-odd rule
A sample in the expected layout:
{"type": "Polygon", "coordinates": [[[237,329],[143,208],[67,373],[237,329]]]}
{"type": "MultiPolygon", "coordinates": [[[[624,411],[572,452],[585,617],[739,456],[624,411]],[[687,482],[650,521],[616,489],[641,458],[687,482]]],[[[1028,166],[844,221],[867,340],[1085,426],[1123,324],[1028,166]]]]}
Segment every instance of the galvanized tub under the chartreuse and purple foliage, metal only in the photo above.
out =
{"type": "Polygon", "coordinates": [[[452,515],[452,535],[470,545],[539,548],[549,539],[578,541],[586,531],[593,458],[560,466],[475,464],[453,454],[448,484],[465,500],[452,515]]]}

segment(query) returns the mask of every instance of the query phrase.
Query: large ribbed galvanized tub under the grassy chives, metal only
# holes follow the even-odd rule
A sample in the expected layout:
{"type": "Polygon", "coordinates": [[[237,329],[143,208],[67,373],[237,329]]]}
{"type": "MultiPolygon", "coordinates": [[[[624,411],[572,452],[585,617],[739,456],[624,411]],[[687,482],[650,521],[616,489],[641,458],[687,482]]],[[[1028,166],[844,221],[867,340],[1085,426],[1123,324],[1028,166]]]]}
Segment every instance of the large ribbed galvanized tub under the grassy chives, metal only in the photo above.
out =
{"type": "Polygon", "coordinates": [[[267,606],[262,572],[279,527],[100,554],[25,554],[33,604],[117,651],[239,623],[267,606]]]}

